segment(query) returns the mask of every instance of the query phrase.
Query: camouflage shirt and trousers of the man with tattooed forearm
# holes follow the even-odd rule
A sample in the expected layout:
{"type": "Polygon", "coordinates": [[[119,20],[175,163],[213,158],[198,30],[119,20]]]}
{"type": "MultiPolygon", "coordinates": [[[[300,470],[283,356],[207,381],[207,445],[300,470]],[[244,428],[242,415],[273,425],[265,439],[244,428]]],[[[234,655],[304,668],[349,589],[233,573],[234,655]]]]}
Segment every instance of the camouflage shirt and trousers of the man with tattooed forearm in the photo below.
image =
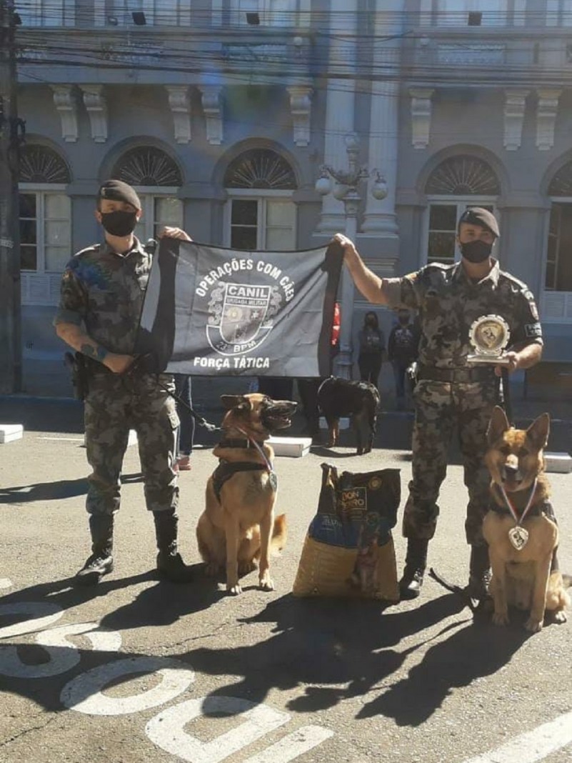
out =
{"type": "MultiPolygon", "coordinates": [[[[54,324],[84,324],[88,335],[111,353],[133,354],[152,259],[137,239],[123,256],[107,243],[77,253],[63,274],[54,324]]],[[[156,375],[118,375],[90,359],[88,369],[85,446],[93,469],[88,512],[111,514],[119,508],[130,429],[137,432],[147,509],[175,510],[175,401],[159,387],[156,375]]],[[[175,391],[171,375],[159,375],[159,381],[175,391]]]]}

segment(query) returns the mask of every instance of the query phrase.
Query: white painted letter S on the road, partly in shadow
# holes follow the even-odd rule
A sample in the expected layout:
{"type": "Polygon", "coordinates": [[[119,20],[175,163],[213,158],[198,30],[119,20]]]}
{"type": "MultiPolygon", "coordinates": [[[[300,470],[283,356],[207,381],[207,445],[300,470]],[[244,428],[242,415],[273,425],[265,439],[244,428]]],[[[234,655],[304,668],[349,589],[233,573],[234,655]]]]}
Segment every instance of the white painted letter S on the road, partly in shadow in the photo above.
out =
{"type": "Polygon", "coordinates": [[[76,623],[37,633],[34,641],[42,645],[49,656],[48,662],[28,665],[22,662],[15,646],[0,646],[0,674],[11,678],[50,678],[74,668],[81,658],[79,650],[66,636],[85,633],[95,651],[116,652],[121,647],[121,635],[116,631],[98,630],[98,623],[76,623]]]}

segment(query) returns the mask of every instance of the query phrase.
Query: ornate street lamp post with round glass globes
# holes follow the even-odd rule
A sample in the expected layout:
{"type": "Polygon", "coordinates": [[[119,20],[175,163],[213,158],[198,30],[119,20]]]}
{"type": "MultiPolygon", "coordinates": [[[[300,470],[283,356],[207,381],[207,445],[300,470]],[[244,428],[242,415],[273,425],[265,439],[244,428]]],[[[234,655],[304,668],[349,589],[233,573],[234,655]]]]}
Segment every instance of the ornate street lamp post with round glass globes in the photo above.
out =
{"type": "MultiPolygon", "coordinates": [[[[359,137],[355,133],[345,136],[345,150],[348,154],[348,171],[333,169],[328,164],[320,166],[320,177],[316,182],[316,190],[326,196],[332,193],[338,201],[343,201],[345,215],[345,235],[355,241],[358,233],[358,209],[362,197],[359,195],[359,185],[363,180],[374,175],[371,193],[374,198],[384,199],[387,196],[386,182],[378,169],[371,172],[365,167],[358,166],[359,137]],[[332,184],[333,181],[333,184],[332,184]]],[[[352,319],[354,304],[354,282],[348,269],[342,271],[342,325],[339,331],[339,355],[337,356],[338,373],[342,378],[352,378],[352,319]]]]}

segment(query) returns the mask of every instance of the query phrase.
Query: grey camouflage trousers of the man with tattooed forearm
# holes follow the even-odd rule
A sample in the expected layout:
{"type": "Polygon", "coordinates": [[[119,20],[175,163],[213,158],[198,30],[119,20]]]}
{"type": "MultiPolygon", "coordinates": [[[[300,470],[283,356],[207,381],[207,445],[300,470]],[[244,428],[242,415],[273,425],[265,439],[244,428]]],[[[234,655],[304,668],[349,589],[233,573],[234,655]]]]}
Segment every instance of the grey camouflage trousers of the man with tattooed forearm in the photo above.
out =
{"type": "MultiPolygon", "coordinates": [[[[159,380],[175,391],[172,377],[159,380]]],[[[88,477],[89,513],[113,513],[120,506],[121,468],[129,430],[137,432],[146,507],[175,509],[178,504],[175,401],[157,385],[156,376],[138,378],[98,373],[89,378],[85,398],[85,447],[93,472],[88,477]]]]}

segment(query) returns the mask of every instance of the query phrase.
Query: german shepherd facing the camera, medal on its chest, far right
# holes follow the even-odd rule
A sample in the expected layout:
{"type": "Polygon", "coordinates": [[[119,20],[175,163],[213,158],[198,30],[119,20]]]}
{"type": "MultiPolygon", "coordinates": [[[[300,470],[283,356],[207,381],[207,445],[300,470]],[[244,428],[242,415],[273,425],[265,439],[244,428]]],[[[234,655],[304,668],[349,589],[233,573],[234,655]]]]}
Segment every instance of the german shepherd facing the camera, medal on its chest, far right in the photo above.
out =
{"type": "Polygon", "coordinates": [[[570,578],[551,571],[558,525],[548,501],[550,487],[542,457],[549,429],[548,414],[541,414],[527,430],[514,429],[497,406],[485,456],[495,504],[483,523],[493,571],[493,623],[506,625],[508,608],[516,607],[529,611],[525,628],[532,633],[541,630],[545,613],[554,622],[564,623],[564,609],[570,606],[566,591],[570,578]]]}

